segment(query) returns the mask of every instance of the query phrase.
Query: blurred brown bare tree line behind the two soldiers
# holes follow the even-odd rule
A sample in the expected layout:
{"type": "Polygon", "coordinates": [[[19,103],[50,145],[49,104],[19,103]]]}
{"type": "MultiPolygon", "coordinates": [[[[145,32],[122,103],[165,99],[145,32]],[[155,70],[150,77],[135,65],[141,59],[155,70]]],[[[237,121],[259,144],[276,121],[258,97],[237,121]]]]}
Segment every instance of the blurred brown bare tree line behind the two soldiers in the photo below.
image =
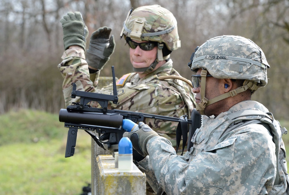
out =
{"type": "Polygon", "coordinates": [[[210,38],[240,35],[259,45],[271,68],[268,85],[253,100],[276,118],[289,119],[289,0],[0,0],[0,114],[18,107],[58,113],[65,107],[57,65],[64,51],[59,21],[68,11],[82,13],[89,34],[112,27],[116,49],[101,76],[111,76],[114,65],[119,78],[132,72],[128,46],[119,36],[127,12],[152,4],[177,19],[181,48],[171,58],[187,79],[192,52],[210,38]]]}

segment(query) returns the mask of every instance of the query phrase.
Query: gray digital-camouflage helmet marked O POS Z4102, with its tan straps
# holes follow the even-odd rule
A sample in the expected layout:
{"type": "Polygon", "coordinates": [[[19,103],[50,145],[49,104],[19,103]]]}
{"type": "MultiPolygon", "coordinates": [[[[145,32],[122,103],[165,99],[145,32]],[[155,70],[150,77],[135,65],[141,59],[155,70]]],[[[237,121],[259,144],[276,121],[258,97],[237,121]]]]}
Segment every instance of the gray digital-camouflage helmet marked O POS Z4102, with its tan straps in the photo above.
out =
{"type": "Polygon", "coordinates": [[[201,71],[201,83],[205,83],[207,73],[217,79],[244,79],[242,87],[217,96],[205,98],[205,84],[201,84],[201,103],[196,107],[204,114],[206,106],[235,96],[247,89],[252,94],[267,84],[267,68],[270,68],[265,54],[250,39],[241,36],[218,36],[197,47],[192,53],[188,66],[193,72],[201,71]]]}

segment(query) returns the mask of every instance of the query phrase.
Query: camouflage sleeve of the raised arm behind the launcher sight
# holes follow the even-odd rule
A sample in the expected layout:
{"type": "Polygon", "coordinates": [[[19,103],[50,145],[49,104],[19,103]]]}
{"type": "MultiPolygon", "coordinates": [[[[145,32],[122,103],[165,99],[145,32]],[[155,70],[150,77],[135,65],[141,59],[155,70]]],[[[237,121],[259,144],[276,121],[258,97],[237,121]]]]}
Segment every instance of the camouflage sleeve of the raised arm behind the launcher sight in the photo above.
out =
{"type": "Polygon", "coordinates": [[[91,81],[84,50],[80,47],[67,49],[61,58],[62,62],[58,64],[58,68],[64,78],[62,88],[65,105],[68,106],[79,101],[79,97],[71,99],[72,83],[76,83],[77,90],[95,92],[100,71],[94,74],[91,81]]]}

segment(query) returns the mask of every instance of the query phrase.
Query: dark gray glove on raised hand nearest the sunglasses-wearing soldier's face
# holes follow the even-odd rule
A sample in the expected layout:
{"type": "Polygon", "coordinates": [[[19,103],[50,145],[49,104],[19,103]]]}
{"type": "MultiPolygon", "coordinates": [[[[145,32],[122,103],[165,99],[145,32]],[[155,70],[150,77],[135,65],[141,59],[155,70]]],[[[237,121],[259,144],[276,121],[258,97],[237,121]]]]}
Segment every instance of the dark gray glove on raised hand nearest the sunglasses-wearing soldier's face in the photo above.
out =
{"type": "Polygon", "coordinates": [[[86,53],[86,62],[89,66],[102,69],[114,52],[114,36],[110,38],[111,28],[102,27],[94,31],[90,37],[89,48],[86,53]]]}

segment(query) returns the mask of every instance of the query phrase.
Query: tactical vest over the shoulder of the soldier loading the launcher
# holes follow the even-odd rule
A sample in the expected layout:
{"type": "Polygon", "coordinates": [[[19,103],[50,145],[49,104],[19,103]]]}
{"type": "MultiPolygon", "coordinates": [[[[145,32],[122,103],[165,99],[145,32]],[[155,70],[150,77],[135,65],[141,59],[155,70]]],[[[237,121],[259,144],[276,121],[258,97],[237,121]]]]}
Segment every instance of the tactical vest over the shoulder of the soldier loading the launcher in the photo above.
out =
{"type": "MultiPolygon", "coordinates": [[[[272,194],[277,194],[281,189],[284,188],[283,185],[287,185],[286,194],[289,194],[289,175],[287,173],[287,162],[285,160],[286,151],[284,142],[282,140],[282,135],[287,134],[286,128],[282,128],[280,123],[274,119],[272,113],[264,113],[262,111],[257,110],[244,110],[239,112],[234,112],[232,114],[227,115],[227,119],[224,122],[225,128],[218,133],[220,135],[218,142],[213,143],[213,145],[219,144],[222,140],[225,139],[226,133],[229,133],[233,129],[237,129],[249,124],[260,124],[266,127],[268,131],[273,136],[273,142],[275,144],[275,155],[276,155],[276,177],[274,181],[273,188],[271,190],[272,194]]],[[[210,119],[209,119],[210,120],[210,119]]],[[[223,125],[224,125],[223,123],[223,125]]],[[[220,127],[220,126],[219,126],[220,127]]],[[[223,127],[223,126],[222,126],[223,127]]],[[[198,137],[198,132],[196,131],[195,135],[192,138],[192,142],[194,143],[194,147],[190,151],[192,155],[190,160],[194,158],[197,153],[202,151],[208,151],[211,148],[208,145],[201,144],[203,142],[203,138],[198,137]],[[199,142],[199,143],[198,143],[199,142]]],[[[208,137],[208,136],[207,136],[208,137]]],[[[212,146],[212,145],[211,145],[212,146]]]]}

